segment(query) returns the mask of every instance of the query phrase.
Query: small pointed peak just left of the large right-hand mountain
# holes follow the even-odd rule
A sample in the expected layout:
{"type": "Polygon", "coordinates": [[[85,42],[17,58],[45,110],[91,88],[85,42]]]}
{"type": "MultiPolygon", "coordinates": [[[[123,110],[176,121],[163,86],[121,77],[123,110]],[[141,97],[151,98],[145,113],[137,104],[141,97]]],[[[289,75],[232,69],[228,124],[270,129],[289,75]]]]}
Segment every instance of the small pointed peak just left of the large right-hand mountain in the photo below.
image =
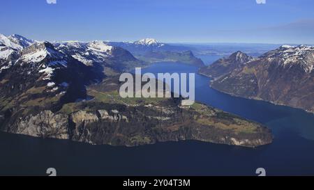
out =
{"type": "Polygon", "coordinates": [[[229,57],[220,58],[207,67],[200,68],[199,72],[208,77],[219,78],[237,68],[241,68],[244,63],[252,60],[253,57],[238,51],[234,52],[229,57]]]}

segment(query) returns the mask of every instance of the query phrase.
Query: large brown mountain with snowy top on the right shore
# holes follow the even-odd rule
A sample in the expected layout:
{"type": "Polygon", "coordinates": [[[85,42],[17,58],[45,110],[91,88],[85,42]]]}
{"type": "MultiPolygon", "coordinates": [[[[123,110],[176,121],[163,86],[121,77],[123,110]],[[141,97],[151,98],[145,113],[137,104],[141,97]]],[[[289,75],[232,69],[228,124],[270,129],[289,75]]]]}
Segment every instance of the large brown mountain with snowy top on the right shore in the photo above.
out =
{"type": "MultiPolygon", "coordinates": [[[[283,45],[211,82],[224,93],[314,112],[314,47],[283,45]]],[[[215,72],[214,70],[211,72],[215,72]]]]}

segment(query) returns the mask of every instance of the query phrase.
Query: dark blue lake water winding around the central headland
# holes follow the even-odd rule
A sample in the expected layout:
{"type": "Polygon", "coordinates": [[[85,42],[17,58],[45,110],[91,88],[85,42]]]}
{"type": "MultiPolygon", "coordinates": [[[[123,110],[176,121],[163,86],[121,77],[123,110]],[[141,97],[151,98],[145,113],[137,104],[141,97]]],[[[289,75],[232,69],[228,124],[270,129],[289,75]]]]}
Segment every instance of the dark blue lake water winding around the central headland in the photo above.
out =
{"type": "MultiPolygon", "coordinates": [[[[177,63],[158,63],[142,72],[197,72],[177,63]]],[[[274,142],[242,148],[181,141],[125,148],[88,145],[0,133],[0,175],[314,175],[314,114],[287,106],[246,100],[209,87],[195,74],[196,100],[271,128],[274,142]]]]}

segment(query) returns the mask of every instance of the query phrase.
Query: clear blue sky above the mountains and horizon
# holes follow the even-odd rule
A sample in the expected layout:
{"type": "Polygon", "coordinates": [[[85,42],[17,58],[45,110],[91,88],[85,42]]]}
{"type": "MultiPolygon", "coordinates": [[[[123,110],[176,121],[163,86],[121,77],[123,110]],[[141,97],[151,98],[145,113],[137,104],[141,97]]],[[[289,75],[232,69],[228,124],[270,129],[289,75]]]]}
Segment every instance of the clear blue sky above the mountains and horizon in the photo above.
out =
{"type": "Polygon", "coordinates": [[[1,0],[0,33],[36,40],[314,44],[313,0],[1,0]]]}

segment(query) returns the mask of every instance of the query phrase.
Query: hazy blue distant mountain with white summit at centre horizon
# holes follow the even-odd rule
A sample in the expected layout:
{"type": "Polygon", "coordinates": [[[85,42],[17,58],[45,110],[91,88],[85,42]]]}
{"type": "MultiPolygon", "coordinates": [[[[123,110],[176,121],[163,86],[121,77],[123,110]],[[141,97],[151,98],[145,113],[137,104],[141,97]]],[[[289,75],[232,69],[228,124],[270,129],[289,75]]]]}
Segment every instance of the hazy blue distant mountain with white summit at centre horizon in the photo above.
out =
{"type": "Polygon", "coordinates": [[[137,40],[135,42],[107,42],[108,45],[114,45],[127,49],[136,58],[147,63],[156,62],[180,62],[196,66],[204,66],[200,58],[196,58],[191,52],[191,47],[183,45],[169,45],[158,42],[152,38],[137,40]]]}

